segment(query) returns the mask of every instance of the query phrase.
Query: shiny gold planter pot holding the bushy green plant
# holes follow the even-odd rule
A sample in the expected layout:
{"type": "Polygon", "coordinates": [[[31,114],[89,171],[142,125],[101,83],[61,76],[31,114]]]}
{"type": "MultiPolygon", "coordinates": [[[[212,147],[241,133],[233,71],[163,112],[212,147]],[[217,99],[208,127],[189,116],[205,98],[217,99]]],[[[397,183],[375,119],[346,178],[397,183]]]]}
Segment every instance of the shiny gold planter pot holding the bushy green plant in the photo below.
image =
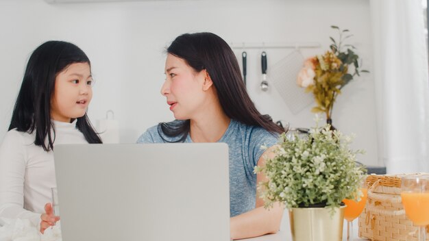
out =
{"type": "Polygon", "coordinates": [[[294,207],[289,210],[294,241],[341,241],[345,206],[331,216],[326,207],[294,207]]]}

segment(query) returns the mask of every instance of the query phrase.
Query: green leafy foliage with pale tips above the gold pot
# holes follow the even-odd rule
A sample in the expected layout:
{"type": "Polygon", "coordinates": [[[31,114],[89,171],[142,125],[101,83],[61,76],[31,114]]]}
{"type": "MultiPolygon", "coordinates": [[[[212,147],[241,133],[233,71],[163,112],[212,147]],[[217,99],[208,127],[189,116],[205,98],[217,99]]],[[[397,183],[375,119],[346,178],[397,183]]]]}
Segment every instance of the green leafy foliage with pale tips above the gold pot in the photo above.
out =
{"type": "Polygon", "coordinates": [[[311,129],[309,138],[288,140],[282,134],[275,157],[254,170],[267,176],[268,181],[258,183],[265,207],[276,201],[288,208],[319,203],[339,207],[343,199],[354,199],[365,169],[355,163],[363,151],[350,150],[351,142],[328,124],[311,129]]]}

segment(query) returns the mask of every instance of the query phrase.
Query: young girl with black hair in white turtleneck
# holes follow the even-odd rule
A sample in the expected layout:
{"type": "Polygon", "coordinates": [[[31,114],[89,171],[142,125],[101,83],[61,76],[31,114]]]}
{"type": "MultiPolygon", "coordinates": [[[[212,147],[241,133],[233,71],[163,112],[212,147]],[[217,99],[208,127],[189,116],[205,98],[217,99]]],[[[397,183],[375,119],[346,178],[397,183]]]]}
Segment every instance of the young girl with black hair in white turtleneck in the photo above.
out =
{"type": "Polygon", "coordinates": [[[86,115],[92,82],[79,47],[49,41],[34,50],[0,147],[0,217],[28,218],[42,232],[59,220],[50,205],[55,145],[101,143],[86,115]]]}

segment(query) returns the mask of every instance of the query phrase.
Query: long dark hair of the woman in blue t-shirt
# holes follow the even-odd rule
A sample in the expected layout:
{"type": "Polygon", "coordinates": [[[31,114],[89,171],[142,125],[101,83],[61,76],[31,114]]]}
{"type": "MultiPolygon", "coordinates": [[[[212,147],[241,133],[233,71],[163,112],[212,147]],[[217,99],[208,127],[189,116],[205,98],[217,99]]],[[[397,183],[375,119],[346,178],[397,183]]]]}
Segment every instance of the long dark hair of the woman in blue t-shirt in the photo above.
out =
{"type": "MultiPolygon", "coordinates": [[[[262,115],[256,110],[247,94],[234,52],[221,37],[212,33],[182,34],[167,48],[167,53],[185,60],[197,72],[204,69],[208,72],[222,109],[228,117],[246,125],[262,127],[271,133],[280,134],[284,131],[273,123],[270,116],[262,115]]],[[[183,142],[189,128],[189,120],[160,123],[158,132],[176,137],[177,140],[173,142],[183,142]]],[[[162,134],[160,133],[161,137],[162,134]]]]}

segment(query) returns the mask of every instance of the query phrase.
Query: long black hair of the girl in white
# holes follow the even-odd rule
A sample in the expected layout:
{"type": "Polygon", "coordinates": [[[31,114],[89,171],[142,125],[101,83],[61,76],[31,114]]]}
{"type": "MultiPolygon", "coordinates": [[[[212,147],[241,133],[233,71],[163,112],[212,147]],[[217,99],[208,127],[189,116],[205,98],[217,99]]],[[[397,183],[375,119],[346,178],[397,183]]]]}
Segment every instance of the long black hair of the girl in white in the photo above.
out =
{"type": "MultiPolygon", "coordinates": [[[[53,149],[55,128],[51,122],[51,97],[55,90],[56,76],[73,63],[90,65],[84,51],[69,42],[48,41],[34,50],[25,68],[9,131],[14,128],[30,134],[36,131],[34,144],[45,151],[53,149]]],[[[89,143],[101,143],[86,113],[77,118],[76,127],[89,143]]]]}

